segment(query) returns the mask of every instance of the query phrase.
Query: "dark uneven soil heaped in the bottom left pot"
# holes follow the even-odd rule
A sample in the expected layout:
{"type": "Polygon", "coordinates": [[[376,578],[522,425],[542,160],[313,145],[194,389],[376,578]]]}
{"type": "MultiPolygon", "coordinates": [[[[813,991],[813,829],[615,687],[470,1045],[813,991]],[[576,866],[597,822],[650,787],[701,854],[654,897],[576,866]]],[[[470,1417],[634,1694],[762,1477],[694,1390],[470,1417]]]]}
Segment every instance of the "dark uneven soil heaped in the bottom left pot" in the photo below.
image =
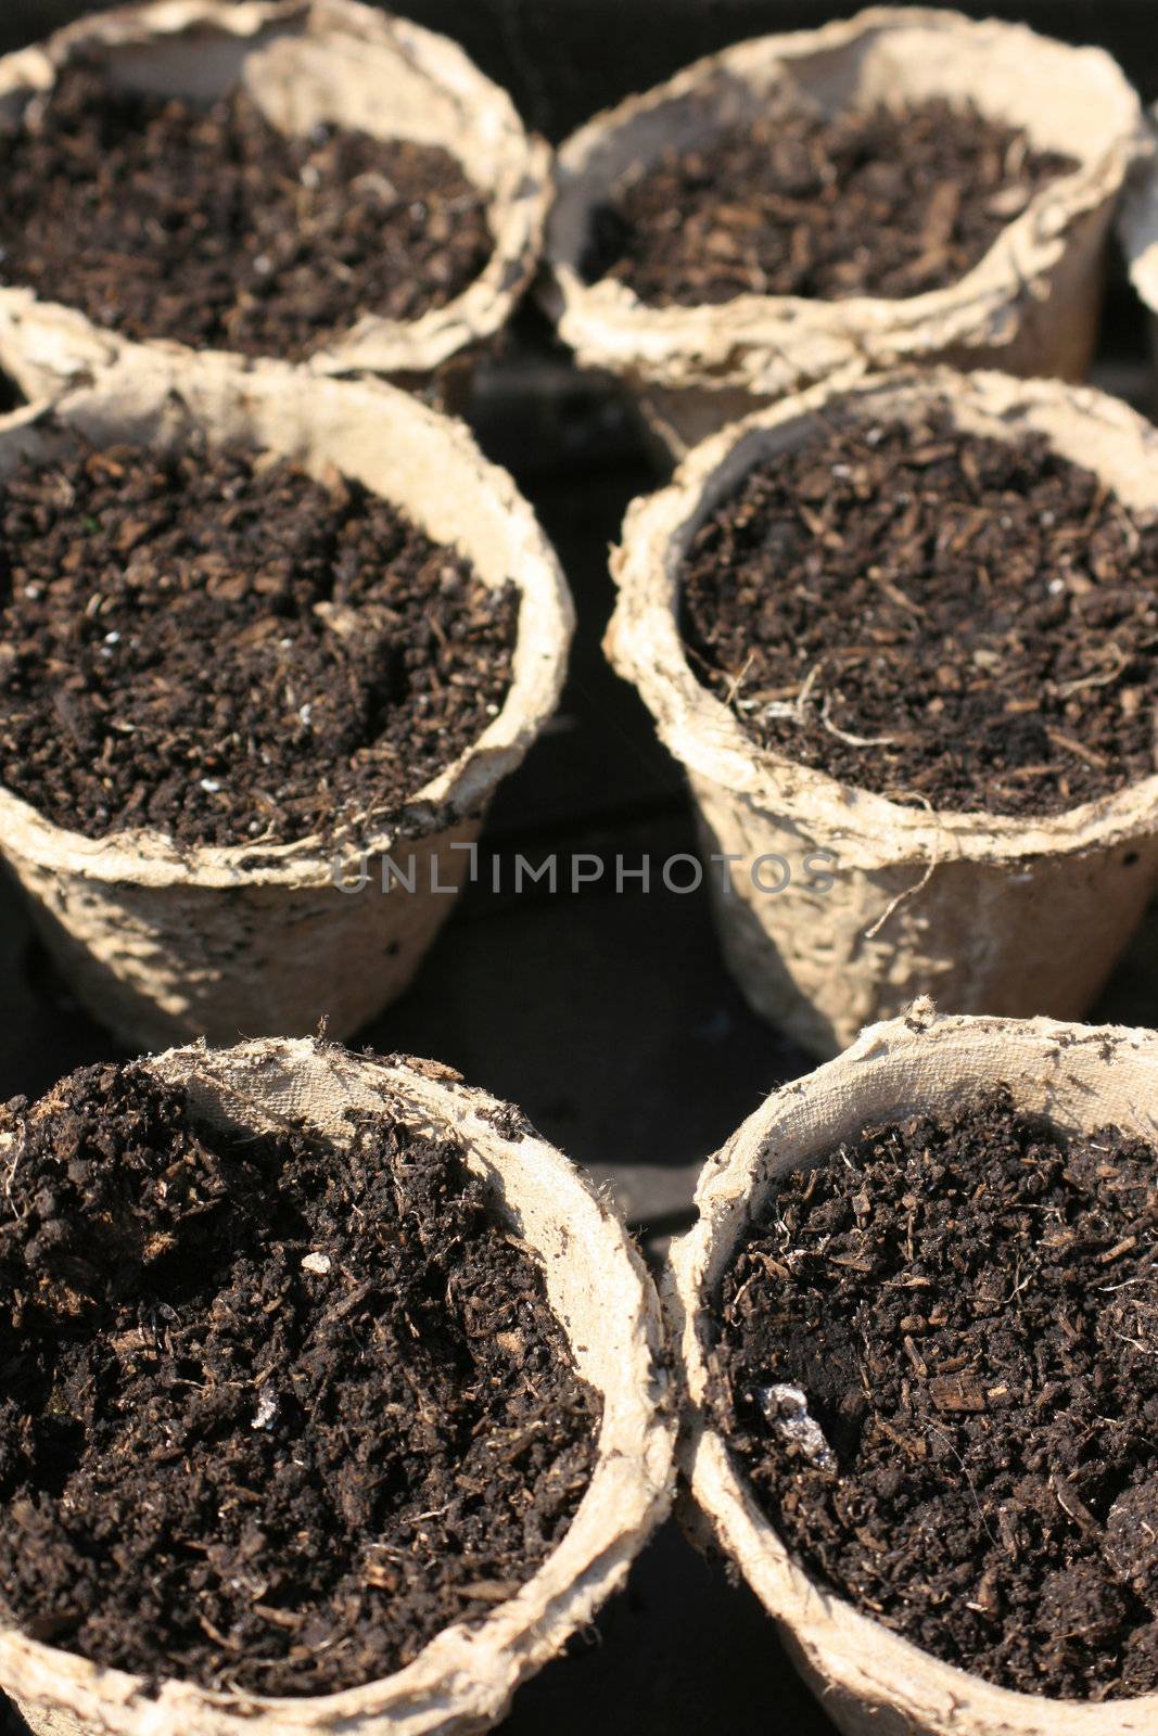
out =
{"type": "Polygon", "coordinates": [[[326,1694],[564,1535],[601,1403],[460,1147],[210,1132],[137,1066],[0,1130],[0,1613],[151,1684],[326,1694]]]}

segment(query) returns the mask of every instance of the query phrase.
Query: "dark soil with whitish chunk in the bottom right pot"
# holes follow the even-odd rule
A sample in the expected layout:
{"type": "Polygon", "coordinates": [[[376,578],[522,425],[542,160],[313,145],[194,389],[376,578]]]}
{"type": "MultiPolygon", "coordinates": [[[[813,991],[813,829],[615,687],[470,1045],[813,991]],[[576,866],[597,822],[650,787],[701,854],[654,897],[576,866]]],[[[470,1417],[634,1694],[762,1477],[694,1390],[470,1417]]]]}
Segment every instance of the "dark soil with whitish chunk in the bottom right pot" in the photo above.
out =
{"type": "Polygon", "coordinates": [[[1003,1088],[785,1177],[714,1406],[807,1571],[1024,1693],[1158,1691],[1158,1154],[1003,1088]]]}

